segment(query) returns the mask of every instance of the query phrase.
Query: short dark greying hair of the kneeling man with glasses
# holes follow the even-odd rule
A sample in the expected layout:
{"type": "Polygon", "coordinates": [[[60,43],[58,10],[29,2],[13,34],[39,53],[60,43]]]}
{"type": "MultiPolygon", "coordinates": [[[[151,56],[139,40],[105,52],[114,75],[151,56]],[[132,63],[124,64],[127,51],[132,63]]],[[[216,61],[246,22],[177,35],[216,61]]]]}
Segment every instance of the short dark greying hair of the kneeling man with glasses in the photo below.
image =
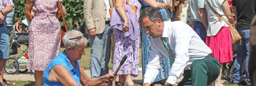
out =
{"type": "Polygon", "coordinates": [[[158,9],[155,9],[153,7],[147,7],[141,12],[139,23],[141,23],[142,20],[147,16],[149,17],[149,20],[151,20],[152,22],[155,22],[157,18],[159,18],[162,22],[164,21],[158,9]]]}

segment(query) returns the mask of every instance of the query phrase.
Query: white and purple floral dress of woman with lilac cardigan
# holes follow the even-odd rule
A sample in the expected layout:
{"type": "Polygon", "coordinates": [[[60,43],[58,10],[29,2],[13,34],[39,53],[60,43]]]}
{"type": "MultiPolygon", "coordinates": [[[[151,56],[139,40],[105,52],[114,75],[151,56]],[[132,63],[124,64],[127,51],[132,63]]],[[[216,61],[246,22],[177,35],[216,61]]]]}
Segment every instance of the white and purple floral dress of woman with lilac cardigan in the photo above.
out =
{"type": "MultiPolygon", "coordinates": [[[[138,23],[139,16],[140,16],[140,9],[141,4],[138,0],[129,0],[130,6],[137,7],[137,16],[136,16],[136,23],[138,23]]],[[[126,0],[125,0],[126,4],[126,0]]],[[[112,21],[115,22],[115,21],[112,21]]],[[[131,25],[130,25],[131,26],[131,25]]],[[[139,75],[139,51],[140,51],[140,34],[139,34],[139,26],[135,27],[137,30],[134,30],[137,39],[132,40],[130,37],[125,37],[123,31],[114,28],[115,33],[115,53],[114,53],[114,65],[112,72],[115,72],[117,67],[120,64],[124,55],[127,55],[128,58],[125,63],[122,65],[120,70],[118,71],[117,75],[122,74],[131,74],[131,76],[138,76],[139,75]]],[[[129,29],[135,29],[129,28],[129,29]]]]}

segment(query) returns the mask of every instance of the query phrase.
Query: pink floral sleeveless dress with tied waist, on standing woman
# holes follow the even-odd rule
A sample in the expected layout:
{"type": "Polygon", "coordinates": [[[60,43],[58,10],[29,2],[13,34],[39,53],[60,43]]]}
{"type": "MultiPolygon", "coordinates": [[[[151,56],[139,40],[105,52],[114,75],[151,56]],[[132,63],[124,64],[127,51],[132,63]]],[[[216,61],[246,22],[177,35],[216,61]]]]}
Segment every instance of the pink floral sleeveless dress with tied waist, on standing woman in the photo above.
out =
{"type": "Polygon", "coordinates": [[[44,71],[58,55],[61,45],[60,22],[56,18],[58,0],[31,1],[34,2],[34,18],[29,27],[27,68],[44,71]]]}

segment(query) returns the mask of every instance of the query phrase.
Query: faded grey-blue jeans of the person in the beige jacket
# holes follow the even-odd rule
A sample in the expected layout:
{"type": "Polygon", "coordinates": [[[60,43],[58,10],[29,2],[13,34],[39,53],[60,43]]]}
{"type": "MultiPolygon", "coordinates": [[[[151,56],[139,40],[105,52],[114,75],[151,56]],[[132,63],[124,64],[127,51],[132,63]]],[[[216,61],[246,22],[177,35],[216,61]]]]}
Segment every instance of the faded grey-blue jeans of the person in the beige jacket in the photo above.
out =
{"type": "Polygon", "coordinates": [[[98,78],[100,76],[108,74],[108,62],[110,59],[110,34],[112,29],[110,29],[109,24],[105,25],[104,32],[101,34],[96,34],[95,37],[91,37],[91,58],[90,58],[90,70],[91,78],[98,78]]]}

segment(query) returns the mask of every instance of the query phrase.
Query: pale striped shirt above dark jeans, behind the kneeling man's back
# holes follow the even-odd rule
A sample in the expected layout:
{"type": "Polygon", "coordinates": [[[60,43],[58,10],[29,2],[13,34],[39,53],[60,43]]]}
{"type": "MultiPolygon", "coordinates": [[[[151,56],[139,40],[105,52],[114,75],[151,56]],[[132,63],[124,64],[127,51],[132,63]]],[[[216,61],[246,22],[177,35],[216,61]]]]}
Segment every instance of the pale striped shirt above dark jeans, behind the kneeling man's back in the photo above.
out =
{"type": "Polygon", "coordinates": [[[191,11],[191,19],[193,21],[200,21],[200,17],[198,15],[198,9],[204,8],[204,0],[190,0],[190,11],[191,11]]]}

